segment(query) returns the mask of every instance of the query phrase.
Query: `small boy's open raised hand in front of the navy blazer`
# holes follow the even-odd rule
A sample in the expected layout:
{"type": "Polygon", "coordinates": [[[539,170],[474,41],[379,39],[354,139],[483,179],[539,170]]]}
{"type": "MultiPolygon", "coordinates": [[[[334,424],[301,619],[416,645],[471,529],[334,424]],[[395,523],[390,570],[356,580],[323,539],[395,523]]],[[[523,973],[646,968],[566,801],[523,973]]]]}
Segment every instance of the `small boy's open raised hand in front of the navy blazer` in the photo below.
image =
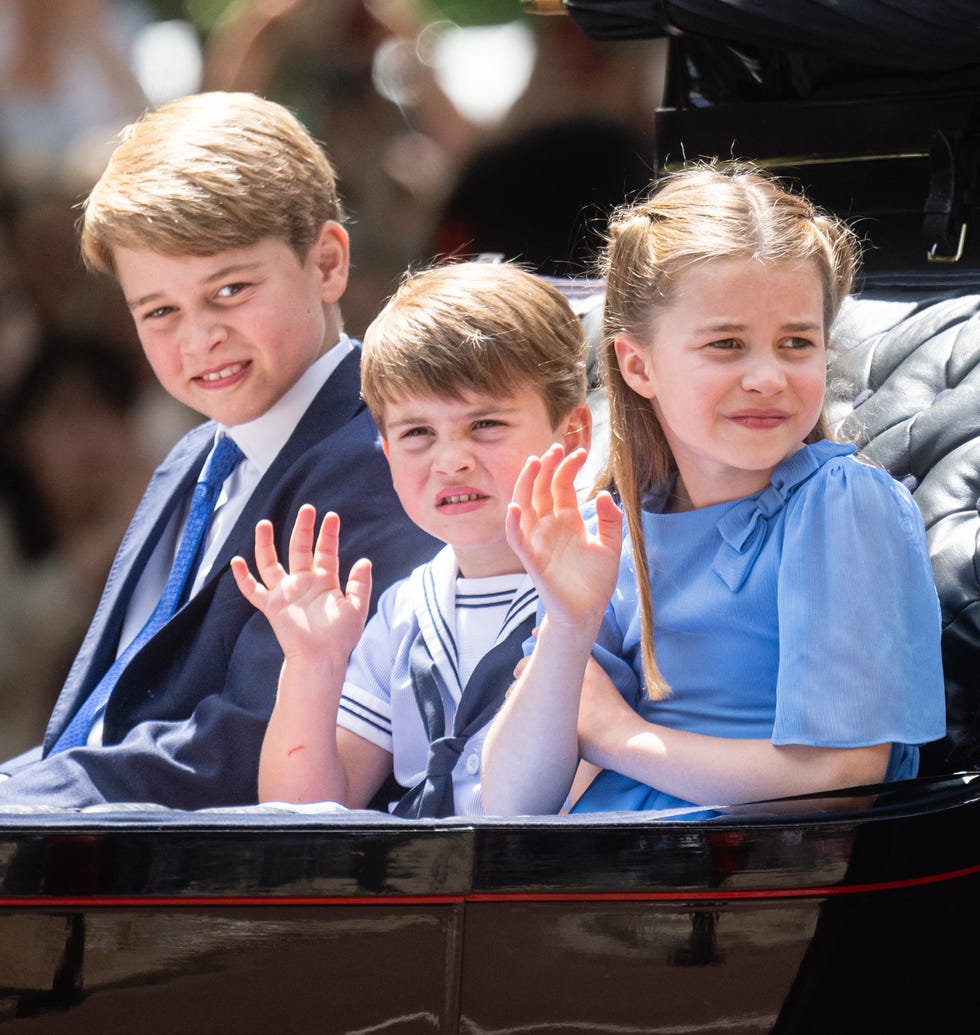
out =
{"type": "Polygon", "coordinates": [[[345,592],[337,560],[340,519],[332,511],[324,516],[315,546],[316,524],[315,508],[300,507],[287,571],[276,554],[271,522],[259,522],[256,567],[261,582],[242,557],[232,560],[232,573],[245,599],[269,620],[287,658],[332,653],[346,663],[367,619],[370,562],[354,564],[345,592]]]}

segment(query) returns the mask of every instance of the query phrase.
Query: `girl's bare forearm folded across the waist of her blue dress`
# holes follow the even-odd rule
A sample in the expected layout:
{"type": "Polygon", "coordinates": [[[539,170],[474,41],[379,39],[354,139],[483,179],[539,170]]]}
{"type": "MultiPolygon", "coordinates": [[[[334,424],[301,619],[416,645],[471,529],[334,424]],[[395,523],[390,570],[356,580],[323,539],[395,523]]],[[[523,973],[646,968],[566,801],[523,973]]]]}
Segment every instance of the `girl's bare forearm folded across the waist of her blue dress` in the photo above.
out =
{"type": "Polygon", "coordinates": [[[704,805],[878,783],[891,747],[777,745],[657,726],[629,706],[595,661],[582,692],[578,740],[595,765],[704,805]]]}

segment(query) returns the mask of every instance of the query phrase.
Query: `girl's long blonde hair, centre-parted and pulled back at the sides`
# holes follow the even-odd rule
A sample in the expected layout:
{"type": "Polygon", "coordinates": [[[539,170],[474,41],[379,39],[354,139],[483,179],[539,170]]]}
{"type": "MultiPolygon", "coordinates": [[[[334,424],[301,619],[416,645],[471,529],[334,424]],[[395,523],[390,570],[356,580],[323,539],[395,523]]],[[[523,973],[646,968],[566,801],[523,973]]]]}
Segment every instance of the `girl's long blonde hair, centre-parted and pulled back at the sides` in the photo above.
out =
{"type": "MultiPolygon", "coordinates": [[[[600,485],[618,494],[633,543],[644,678],[654,700],[666,697],[670,687],[653,646],[642,502],[669,486],[677,465],[650,402],[623,379],[616,338],[625,333],[655,349],[653,321],[659,309],[671,305],[679,275],[694,263],[733,258],[773,266],[812,263],[823,284],[827,333],[852,289],[859,250],[854,233],[840,219],[761,170],[735,162],[690,166],[667,174],[644,200],[614,214],[601,259],[610,460],[600,485]]],[[[805,441],[827,435],[822,416],[805,441]]]]}

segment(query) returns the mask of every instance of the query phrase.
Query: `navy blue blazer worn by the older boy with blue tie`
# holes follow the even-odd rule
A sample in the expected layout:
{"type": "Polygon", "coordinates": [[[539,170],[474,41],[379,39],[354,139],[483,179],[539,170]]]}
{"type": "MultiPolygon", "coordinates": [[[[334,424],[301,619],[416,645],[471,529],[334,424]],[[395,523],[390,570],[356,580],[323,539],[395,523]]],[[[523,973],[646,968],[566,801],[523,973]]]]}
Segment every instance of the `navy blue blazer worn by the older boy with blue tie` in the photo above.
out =
{"type": "Polygon", "coordinates": [[[360,400],[359,361],[356,350],[333,372],[256,487],[200,592],[127,666],[106,709],[102,746],[47,757],[115,658],[133,587],[192,491],[213,421],[174,447],[122,539],[52,713],[46,757],[0,782],[0,803],[139,801],[191,809],[256,802],[259,752],[283,661],[271,626],[239,593],[229,566],[236,554],[251,562],[256,523],[272,521],[285,557],[303,503],[318,513],[335,510],[341,578],[357,558],[369,557],[373,608],[382,590],[442,545],[409,521],[394,495],[378,428],[360,400]]]}

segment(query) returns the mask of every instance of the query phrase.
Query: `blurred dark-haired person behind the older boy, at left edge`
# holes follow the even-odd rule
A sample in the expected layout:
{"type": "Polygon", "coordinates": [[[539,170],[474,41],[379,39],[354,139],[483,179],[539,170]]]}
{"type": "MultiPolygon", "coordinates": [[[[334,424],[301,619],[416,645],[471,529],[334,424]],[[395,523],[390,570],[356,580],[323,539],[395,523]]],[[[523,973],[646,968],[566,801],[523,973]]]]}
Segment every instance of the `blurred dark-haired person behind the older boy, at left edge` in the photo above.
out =
{"type": "Polygon", "coordinates": [[[143,484],[136,375],[112,350],[48,336],[0,423],[0,752],[43,736],[143,484]]]}

